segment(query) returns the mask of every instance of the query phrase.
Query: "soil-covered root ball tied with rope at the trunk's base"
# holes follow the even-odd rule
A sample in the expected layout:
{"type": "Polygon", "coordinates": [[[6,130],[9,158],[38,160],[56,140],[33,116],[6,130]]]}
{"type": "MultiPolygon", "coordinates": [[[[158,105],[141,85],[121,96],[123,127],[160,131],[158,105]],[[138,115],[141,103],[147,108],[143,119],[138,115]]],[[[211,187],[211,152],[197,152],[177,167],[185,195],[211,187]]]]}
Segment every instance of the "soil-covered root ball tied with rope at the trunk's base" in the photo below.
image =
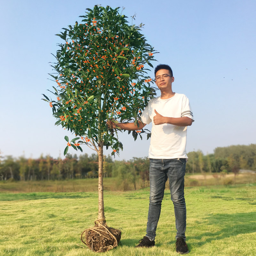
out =
{"type": "Polygon", "coordinates": [[[93,228],[87,228],[81,234],[81,241],[94,252],[106,252],[115,248],[121,239],[121,230],[109,228],[95,221],[93,228]]]}

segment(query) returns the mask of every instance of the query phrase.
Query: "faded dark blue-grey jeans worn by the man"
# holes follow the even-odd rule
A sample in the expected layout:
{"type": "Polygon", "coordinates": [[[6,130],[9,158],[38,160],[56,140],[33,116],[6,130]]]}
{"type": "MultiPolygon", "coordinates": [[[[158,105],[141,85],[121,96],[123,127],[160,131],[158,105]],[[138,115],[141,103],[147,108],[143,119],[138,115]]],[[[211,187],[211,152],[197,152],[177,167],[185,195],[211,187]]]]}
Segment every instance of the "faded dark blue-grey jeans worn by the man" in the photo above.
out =
{"type": "Polygon", "coordinates": [[[150,240],[156,236],[157,222],[160,217],[161,204],[164,197],[164,188],[167,178],[174,205],[176,239],[182,237],[186,240],[186,203],[184,198],[184,175],[186,158],[175,159],[149,159],[150,196],[148,209],[147,234],[150,240]]]}

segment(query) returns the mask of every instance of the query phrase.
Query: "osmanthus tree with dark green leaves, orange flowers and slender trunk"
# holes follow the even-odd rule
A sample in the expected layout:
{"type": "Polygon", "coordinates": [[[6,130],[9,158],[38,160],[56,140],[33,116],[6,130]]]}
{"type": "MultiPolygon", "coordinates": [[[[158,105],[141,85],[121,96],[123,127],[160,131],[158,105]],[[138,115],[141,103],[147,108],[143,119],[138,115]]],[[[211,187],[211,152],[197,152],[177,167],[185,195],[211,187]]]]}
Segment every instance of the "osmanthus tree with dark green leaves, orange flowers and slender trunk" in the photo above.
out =
{"type": "MultiPolygon", "coordinates": [[[[58,44],[59,50],[54,55],[57,61],[52,65],[54,73],[50,74],[57,83],[57,89],[53,86],[52,92],[56,98],[52,100],[44,95],[58,119],[55,124],[76,135],[70,141],[65,136],[68,146],[64,155],[69,147],[82,151],[82,144],[98,153],[97,225],[104,227],[107,226],[103,204],[103,147],[112,148],[112,155],[123,149],[116,130],[108,130],[107,121],[134,120],[139,125],[141,111],[155,94],[146,66],[153,67],[151,62],[156,51],[140,33],[142,24],[127,24],[127,17],[118,9],[95,5],[80,16],[83,18],[80,23],[63,28],[57,36],[65,42],[58,44]]],[[[141,137],[139,132],[146,131],[133,131],[135,140],[138,134],[141,137]]],[[[95,245],[95,249],[90,241],[87,245],[94,251],[113,248],[113,245],[95,245]]]]}

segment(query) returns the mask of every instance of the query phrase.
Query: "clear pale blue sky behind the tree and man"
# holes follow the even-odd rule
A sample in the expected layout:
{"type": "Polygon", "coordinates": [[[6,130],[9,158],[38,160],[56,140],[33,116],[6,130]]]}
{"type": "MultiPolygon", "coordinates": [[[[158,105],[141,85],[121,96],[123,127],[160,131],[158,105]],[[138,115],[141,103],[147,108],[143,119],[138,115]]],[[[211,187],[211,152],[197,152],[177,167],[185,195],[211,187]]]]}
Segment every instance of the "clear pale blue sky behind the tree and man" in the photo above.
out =
{"type": "MultiPolygon", "coordinates": [[[[256,2],[254,0],[183,1],[3,1],[0,10],[0,150],[3,156],[64,157],[73,135],[54,126],[42,93],[49,80],[61,28],[81,21],[95,4],[125,7],[133,24],[159,53],[158,62],[172,67],[174,92],[185,94],[195,122],[188,127],[187,152],[213,153],[216,147],[256,143],[256,2]]],[[[154,70],[148,73],[154,78],[154,70]]],[[[159,94],[158,94],[159,95],[159,94]]],[[[147,125],[145,128],[151,129],[147,125]]],[[[150,140],[119,135],[124,145],[116,160],[148,156],[150,140]]],[[[77,153],[69,149],[69,153],[77,153]]],[[[83,146],[83,153],[96,153],[83,146]]],[[[111,149],[104,152],[110,154],[111,149]]],[[[80,153],[78,152],[79,156],[80,153]]]]}

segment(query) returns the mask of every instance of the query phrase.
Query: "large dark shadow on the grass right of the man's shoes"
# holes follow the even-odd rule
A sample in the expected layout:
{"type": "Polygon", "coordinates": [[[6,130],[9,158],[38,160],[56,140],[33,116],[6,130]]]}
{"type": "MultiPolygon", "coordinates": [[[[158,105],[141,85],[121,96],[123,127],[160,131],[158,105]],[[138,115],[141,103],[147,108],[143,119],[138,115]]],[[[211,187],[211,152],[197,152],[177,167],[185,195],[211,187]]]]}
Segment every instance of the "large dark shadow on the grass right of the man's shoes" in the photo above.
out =
{"type": "MultiPolygon", "coordinates": [[[[256,212],[239,212],[239,213],[218,213],[212,214],[204,218],[199,225],[204,226],[204,229],[215,229],[216,232],[204,232],[193,238],[198,240],[197,246],[209,243],[212,240],[221,240],[238,234],[247,234],[256,232],[256,212]],[[213,226],[213,228],[212,228],[213,226]],[[202,241],[202,239],[204,241],[202,241]]],[[[202,229],[198,225],[191,227],[192,229],[202,229]]]]}

